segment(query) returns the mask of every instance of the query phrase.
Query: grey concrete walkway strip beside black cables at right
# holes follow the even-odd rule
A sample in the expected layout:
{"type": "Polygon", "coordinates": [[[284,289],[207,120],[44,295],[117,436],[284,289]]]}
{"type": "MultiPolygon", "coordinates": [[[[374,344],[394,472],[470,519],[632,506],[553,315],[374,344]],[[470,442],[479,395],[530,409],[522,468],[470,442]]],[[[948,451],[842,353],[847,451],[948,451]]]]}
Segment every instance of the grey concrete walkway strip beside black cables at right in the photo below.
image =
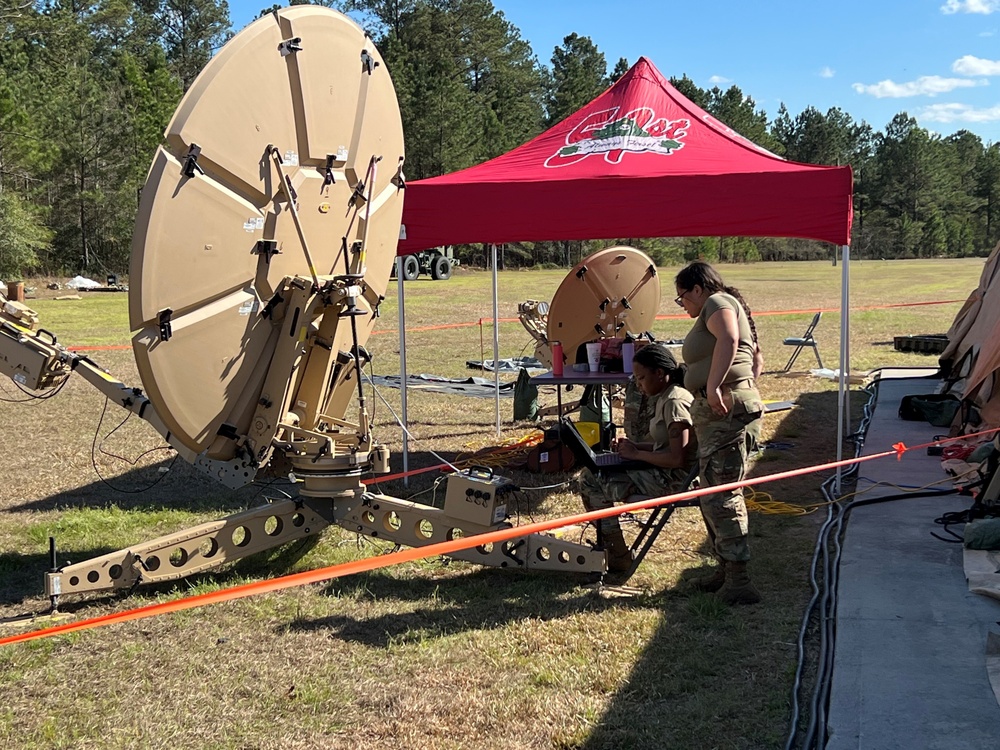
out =
{"type": "MultiPolygon", "coordinates": [[[[864,454],[945,433],[898,417],[903,396],[936,387],[912,371],[883,371],[864,454]]],[[[901,461],[862,464],[860,476],[922,487],[945,474],[940,458],[910,451],[901,461]]],[[[870,486],[858,483],[859,490],[870,486]]],[[[863,497],[898,492],[879,487],[863,497]]],[[[1000,705],[989,669],[996,672],[998,647],[990,641],[987,648],[991,632],[1000,633],[1000,602],[969,591],[961,544],[931,536],[941,529],[935,518],[970,505],[968,497],[913,498],[851,512],[837,592],[827,750],[1000,747],[1000,705]]]]}

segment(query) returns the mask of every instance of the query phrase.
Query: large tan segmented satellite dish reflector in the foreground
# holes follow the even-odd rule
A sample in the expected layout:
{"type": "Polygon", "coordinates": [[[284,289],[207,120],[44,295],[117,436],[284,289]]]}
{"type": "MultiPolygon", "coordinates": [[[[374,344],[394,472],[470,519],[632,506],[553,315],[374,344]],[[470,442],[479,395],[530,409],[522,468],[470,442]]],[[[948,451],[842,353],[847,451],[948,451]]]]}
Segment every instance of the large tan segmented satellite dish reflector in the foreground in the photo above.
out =
{"type": "MultiPolygon", "coordinates": [[[[371,332],[402,214],[399,108],[364,32],[328,8],[299,5],[254,22],[212,59],[166,140],[132,242],[133,348],[174,436],[228,460],[234,436],[265,445],[283,409],[296,408],[284,399],[300,384],[269,375],[280,337],[299,335],[269,315],[288,302],[284,279],[320,287],[323,277],[363,273],[357,343],[371,332]],[[272,402],[273,418],[255,417],[272,402]]],[[[350,352],[352,326],[333,328],[324,345],[350,352]]],[[[301,364],[276,363],[289,379],[301,364]]],[[[344,368],[329,393],[313,388],[323,403],[308,406],[343,416],[352,377],[344,368]]]]}

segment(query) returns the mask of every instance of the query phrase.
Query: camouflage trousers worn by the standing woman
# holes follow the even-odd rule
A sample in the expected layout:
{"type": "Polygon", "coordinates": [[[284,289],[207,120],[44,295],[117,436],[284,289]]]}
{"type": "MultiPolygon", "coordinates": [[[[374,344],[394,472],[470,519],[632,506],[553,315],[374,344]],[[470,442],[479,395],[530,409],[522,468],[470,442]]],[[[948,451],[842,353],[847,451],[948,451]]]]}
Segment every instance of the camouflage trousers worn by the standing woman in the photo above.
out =
{"type": "MultiPolygon", "coordinates": [[[[746,388],[734,390],[732,395],[733,408],[724,417],[712,411],[706,398],[695,398],[691,406],[702,487],[742,481],[747,454],[756,447],[760,435],[764,408],[760,394],[746,388]]],[[[730,562],[749,560],[747,506],[742,490],[704,495],[700,505],[715,557],[730,562]]]]}

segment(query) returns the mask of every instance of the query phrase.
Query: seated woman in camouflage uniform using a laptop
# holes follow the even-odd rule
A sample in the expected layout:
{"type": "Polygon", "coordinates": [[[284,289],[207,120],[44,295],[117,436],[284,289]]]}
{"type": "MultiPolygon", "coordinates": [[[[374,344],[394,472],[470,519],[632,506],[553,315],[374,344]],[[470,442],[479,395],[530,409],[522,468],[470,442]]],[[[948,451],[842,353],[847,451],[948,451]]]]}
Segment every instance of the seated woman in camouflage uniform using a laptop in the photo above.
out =
{"type": "MultiPolygon", "coordinates": [[[[616,448],[622,458],[645,461],[649,468],[600,475],[587,470],[581,488],[587,510],[610,508],[630,495],[661,497],[681,492],[695,465],[698,451],[690,411],[694,397],[684,389],[684,368],[678,366],[666,347],[657,344],[637,351],[632,367],[639,389],[656,398],[649,422],[650,440],[636,442],[634,436],[629,436],[620,439],[616,448]]],[[[601,519],[600,528],[608,570],[616,573],[628,570],[632,553],[625,544],[618,517],[601,519]]]]}

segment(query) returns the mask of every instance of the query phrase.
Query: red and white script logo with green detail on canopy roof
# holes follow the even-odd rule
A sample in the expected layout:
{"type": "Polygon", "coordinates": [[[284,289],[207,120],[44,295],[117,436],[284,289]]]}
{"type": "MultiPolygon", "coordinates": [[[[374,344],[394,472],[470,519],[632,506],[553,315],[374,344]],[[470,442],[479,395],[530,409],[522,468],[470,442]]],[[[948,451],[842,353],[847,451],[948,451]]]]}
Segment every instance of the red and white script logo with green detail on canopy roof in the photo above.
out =
{"type": "Polygon", "coordinates": [[[657,117],[649,107],[618,115],[618,107],[593,112],[566,135],[566,145],[545,160],[546,167],[568,167],[588,156],[618,164],[625,154],[670,156],[684,147],[690,120],[657,117]]]}

